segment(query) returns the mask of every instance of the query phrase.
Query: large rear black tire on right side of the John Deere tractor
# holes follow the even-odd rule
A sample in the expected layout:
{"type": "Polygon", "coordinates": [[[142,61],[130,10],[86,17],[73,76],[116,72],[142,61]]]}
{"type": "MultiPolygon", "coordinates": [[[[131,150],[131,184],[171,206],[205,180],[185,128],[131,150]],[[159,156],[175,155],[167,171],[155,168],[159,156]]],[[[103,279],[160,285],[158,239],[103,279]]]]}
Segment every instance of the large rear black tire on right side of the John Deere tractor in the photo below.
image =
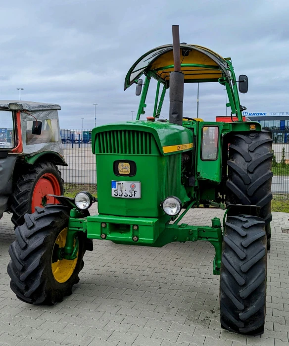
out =
{"type": "Polygon", "coordinates": [[[227,204],[260,206],[270,249],[272,220],[272,132],[232,135],[229,146],[227,204]]]}

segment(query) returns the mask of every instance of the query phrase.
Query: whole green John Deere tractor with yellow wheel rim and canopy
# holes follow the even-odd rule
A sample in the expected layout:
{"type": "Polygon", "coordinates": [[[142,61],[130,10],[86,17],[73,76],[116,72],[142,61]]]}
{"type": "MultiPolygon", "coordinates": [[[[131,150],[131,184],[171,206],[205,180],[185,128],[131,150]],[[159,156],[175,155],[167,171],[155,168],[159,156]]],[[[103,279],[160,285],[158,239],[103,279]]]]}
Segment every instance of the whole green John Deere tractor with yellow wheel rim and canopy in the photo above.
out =
{"type": "Polygon", "coordinates": [[[96,201],[89,191],[75,198],[55,197],[60,204],[26,214],[9,248],[12,291],[27,303],[62,301],[79,281],[92,239],[150,247],[205,241],[215,248],[213,273],[220,275],[222,328],[262,334],[272,139],[258,122],[242,119],[245,107],[238,86],[246,93],[247,77],[236,79],[230,58],[180,44],[179,27],[173,26],[173,44],[148,51],[130,68],[125,89],[134,84],[141,95],[136,120],[92,131],[98,214],[89,213],[96,201]],[[153,79],[154,111],[140,120],[153,79]],[[226,88],[227,107],[236,121],[183,117],[184,85],[200,82],[226,88]],[[167,89],[169,120],[159,118],[167,89]],[[214,217],[211,226],[181,222],[200,205],[226,209],[224,219],[214,217]]]}

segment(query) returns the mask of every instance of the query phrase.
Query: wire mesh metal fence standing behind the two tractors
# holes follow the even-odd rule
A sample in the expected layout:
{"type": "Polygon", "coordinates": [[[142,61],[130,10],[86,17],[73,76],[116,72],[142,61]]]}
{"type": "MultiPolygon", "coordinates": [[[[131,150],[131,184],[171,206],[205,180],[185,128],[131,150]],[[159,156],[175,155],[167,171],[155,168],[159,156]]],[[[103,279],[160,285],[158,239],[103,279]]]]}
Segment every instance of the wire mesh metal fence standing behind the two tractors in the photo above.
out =
{"type": "MultiPolygon", "coordinates": [[[[91,130],[61,130],[67,167],[59,167],[65,191],[96,194],[96,157],[92,153],[91,130]],[[71,131],[73,135],[68,135],[71,131]],[[70,138],[68,138],[70,137],[70,138]]],[[[272,192],[276,199],[289,199],[289,143],[273,143],[272,192]]]]}

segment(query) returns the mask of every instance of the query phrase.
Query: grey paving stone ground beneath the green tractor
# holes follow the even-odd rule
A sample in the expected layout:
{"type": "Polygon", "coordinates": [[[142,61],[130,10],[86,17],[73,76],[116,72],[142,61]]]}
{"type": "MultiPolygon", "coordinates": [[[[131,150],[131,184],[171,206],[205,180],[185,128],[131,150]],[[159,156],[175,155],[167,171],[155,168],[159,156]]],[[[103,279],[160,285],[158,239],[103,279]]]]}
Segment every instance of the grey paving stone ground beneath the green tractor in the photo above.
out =
{"type": "MultiPolygon", "coordinates": [[[[94,206],[92,212],[96,212],[94,206]]],[[[192,209],[184,223],[210,225],[218,209],[192,209]]],[[[0,220],[0,346],[285,346],[289,332],[289,214],[273,213],[267,316],[262,336],[219,322],[219,277],[206,242],[161,248],[94,241],[73,294],[54,306],[21,302],[9,287],[10,216],[0,220]]]]}

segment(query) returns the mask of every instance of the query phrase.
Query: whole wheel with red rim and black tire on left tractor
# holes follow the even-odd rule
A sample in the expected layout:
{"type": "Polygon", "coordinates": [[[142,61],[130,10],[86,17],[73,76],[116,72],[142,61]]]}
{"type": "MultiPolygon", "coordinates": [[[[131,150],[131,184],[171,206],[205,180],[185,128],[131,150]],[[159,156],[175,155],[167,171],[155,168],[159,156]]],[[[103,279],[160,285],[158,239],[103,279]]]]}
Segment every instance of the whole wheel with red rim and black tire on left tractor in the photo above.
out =
{"type": "Polygon", "coordinates": [[[24,172],[18,174],[13,190],[10,209],[15,227],[22,225],[24,215],[34,213],[36,206],[58,203],[48,194],[61,196],[64,193],[61,173],[52,162],[27,166],[24,172]]]}

